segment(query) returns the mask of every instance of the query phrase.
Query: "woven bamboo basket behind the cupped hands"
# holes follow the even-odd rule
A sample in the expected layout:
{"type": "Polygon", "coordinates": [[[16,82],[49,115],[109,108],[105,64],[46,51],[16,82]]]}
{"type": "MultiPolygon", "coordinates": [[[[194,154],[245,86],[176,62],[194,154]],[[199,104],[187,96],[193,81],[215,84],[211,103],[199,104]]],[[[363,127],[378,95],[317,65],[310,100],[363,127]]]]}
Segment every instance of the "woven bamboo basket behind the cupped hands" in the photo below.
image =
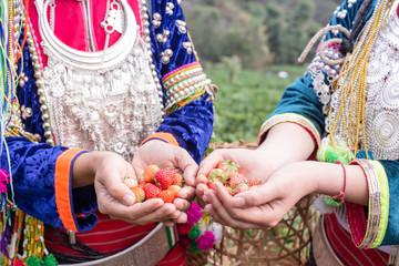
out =
{"type": "MultiPolygon", "coordinates": [[[[216,149],[255,149],[256,143],[237,141],[216,143],[216,149]]],[[[187,250],[190,266],[201,265],[305,265],[309,255],[311,232],[317,214],[311,204],[315,195],[301,198],[270,229],[235,229],[223,226],[222,242],[200,254],[187,250]]]]}

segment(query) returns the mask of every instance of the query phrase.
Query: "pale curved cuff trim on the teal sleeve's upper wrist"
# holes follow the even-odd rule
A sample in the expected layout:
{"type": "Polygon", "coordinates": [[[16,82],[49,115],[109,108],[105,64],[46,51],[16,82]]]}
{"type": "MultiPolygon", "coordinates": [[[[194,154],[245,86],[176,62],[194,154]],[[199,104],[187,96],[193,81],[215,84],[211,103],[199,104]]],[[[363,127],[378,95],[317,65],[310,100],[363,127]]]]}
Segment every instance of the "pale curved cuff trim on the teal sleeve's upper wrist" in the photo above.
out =
{"type": "Polygon", "coordinates": [[[270,130],[276,124],[285,122],[300,125],[313,135],[314,140],[316,141],[317,147],[320,145],[320,134],[316,130],[316,126],[308,119],[296,113],[276,114],[266,120],[266,122],[260,127],[258,143],[260,144],[262,137],[268,130],[270,130]]]}

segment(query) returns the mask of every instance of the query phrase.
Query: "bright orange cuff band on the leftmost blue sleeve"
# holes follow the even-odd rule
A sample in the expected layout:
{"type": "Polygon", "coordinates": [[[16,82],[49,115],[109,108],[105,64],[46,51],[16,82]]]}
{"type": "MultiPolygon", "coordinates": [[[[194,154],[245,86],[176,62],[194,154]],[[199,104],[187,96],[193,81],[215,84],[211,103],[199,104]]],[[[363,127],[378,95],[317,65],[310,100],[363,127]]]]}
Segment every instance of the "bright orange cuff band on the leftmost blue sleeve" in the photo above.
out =
{"type": "Polygon", "coordinates": [[[86,151],[69,149],[55,162],[54,187],[55,203],[60,219],[66,229],[78,232],[78,222],[72,202],[72,165],[75,158],[86,151]]]}

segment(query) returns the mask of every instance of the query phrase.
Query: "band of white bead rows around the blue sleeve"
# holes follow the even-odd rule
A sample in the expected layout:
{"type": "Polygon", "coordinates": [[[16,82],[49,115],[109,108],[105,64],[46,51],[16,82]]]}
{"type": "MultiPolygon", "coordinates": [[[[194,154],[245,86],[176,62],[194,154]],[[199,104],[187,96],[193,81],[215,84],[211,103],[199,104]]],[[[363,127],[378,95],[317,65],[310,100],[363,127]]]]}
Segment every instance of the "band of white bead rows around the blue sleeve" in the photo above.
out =
{"type": "Polygon", "coordinates": [[[164,75],[162,80],[166,91],[166,106],[180,102],[196,90],[211,84],[211,80],[206,78],[198,62],[183,65],[164,75]]]}

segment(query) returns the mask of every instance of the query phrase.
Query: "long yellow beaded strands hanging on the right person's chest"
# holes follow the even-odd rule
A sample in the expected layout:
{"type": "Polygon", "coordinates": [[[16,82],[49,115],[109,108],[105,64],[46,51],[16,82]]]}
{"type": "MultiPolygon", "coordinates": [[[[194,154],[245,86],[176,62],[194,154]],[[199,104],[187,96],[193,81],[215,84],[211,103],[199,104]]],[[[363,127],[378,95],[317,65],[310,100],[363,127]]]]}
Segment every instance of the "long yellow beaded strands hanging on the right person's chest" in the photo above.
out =
{"type": "Polygon", "coordinates": [[[328,114],[330,141],[336,149],[334,136],[336,135],[335,133],[337,132],[338,126],[340,126],[339,130],[345,132],[344,137],[354,149],[355,155],[358,153],[360,140],[362,140],[364,149],[368,156],[365,129],[367,64],[377,32],[386,22],[393,2],[395,1],[392,0],[382,0],[378,2],[354,53],[347,57],[341,73],[334,80],[335,90],[340,90],[340,104],[335,119],[331,117],[332,109],[330,109],[328,114]],[[354,99],[354,95],[356,95],[356,100],[354,99]],[[345,112],[345,106],[348,106],[349,114],[345,112]],[[354,115],[356,121],[355,129],[350,123],[354,115]]]}

